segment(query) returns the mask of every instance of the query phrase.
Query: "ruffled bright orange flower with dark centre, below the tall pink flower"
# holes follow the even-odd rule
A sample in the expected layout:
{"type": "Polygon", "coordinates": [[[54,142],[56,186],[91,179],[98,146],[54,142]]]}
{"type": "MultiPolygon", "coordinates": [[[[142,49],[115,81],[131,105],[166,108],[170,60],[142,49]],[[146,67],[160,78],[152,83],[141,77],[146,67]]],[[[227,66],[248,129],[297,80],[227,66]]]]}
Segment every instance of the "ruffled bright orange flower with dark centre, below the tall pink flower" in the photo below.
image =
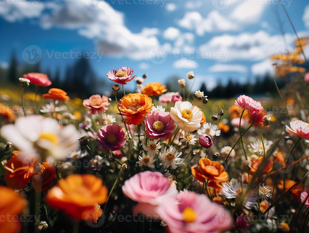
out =
{"type": "Polygon", "coordinates": [[[130,93],[122,97],[119,101],[119,111],[125,118],[128,125],[140,125],[145,119],[145,115],[151,112],[153,106],[152,99],[140,93],[130,93]]]}

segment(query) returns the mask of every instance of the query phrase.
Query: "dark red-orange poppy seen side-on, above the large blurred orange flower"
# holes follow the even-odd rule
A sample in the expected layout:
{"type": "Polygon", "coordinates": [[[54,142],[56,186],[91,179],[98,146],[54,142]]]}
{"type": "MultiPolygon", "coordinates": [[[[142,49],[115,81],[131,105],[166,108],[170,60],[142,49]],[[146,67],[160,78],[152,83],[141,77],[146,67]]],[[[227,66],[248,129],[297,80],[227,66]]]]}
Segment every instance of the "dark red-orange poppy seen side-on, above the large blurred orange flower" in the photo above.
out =
{"type": "Polygon", "coordinates": [[[41,170],[32,177],[32,186],[36,191],[46,191],[56,178],[56,167],[50,162],[43,162],[41,170]]]}

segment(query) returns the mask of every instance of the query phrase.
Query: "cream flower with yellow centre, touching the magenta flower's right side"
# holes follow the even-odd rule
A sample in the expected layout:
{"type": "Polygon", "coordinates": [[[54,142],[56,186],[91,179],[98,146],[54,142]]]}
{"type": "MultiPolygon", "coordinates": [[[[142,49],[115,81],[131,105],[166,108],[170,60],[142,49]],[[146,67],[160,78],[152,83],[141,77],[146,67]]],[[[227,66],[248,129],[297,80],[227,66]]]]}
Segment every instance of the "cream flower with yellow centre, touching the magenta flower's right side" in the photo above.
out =
{"type": "Polygon", "coordinates": [[[177,127],[185,132],[193,132],[201,127],[202,112],[189,101],[177,101],[175,107],[171,107],[171,118],[178,123],[177,127]]]}

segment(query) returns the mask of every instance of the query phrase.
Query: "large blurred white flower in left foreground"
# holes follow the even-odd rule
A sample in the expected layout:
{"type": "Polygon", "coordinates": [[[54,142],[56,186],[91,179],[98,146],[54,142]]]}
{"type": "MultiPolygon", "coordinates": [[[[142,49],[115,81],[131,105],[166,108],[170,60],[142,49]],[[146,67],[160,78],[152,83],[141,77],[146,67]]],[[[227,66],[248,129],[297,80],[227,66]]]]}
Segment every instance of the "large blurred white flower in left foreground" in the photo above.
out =
{"type": "Polygon", "coordinates": [[[60,160],[78,149],[81,136],[73,124],[61,126],[56,119],[40,115],[20,117],[15,124],[2,126],[0,134],[24,153],[60,160]]]}

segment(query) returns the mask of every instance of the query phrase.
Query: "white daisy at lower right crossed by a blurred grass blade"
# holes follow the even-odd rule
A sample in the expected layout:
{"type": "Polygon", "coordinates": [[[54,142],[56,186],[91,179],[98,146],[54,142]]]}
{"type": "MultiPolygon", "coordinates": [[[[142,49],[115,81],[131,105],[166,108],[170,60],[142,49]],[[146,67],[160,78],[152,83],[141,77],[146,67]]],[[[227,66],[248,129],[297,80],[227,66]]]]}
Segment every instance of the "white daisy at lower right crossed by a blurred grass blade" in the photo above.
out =
{"type": "MultiPolygon", "coordinates": [[[[224,196],[227,199],[236,198],[242,194],[243,191],[248,188],[248,184],[243,184],[243,187],[241,187],[240,182],[238,182],[237,179],[231,179],[230,182],[223,182],[222,183],[222,189],[221,193],[222,196],[224,196]]],[[[247,196],[245,197],[243,201],[243,205],[247,209],[251,209],[255,206],[257,200],[257,192],[256,189],[253,189],[248,192],[247,196]]]]}

